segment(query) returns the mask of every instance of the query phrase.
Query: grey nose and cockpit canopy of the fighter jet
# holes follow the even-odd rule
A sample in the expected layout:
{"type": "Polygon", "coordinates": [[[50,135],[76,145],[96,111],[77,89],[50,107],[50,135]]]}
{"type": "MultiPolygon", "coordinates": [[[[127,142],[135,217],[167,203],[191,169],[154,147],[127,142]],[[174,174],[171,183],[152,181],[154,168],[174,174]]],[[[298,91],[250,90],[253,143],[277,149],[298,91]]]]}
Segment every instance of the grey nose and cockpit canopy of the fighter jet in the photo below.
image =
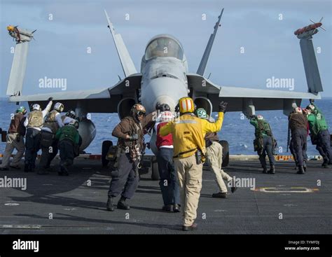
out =
{"type": "Polygon", "coordinates": [[[186,58],[177,39],[169,35],[151,39],[141,63],[141,104],[146,111],[155,110],[157,102],[169,104],[174,111],[177,101],[188,96],[187,72],[186,58]],[[160,40],[162,46],[158,49],[155,42],[160,40]]]}

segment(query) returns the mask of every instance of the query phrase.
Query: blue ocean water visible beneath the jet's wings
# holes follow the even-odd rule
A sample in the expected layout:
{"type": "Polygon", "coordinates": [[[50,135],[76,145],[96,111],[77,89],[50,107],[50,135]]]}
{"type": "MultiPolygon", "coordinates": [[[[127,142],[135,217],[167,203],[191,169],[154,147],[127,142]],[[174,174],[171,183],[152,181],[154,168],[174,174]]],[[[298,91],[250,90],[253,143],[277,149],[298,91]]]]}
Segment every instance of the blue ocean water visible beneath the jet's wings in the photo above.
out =
{"type": "MultiPolygon", "coordinates": [[[[307,100],[303,101],[302,106],[305,107],[309,104],[307,100]]],[[[319,109],[323,111],[326,121],[331,132],[332,125],[332,98],[324,98],[315,102],[319,109]]],[[[22,104],[27,106],[27,104],[22,104]]],[[[15,103],[9,103],[5,100],[0,101],[0,127],[3,130],[8,130],[8,125],[11,119],[11,113],[15,112],[17,106],[15,103]]],[[[287,144],[287,129],[288,120],[282,111],[258,111],[256,114],[261,114],[268,120],[272,127],[272,132],[277,139],[280,154],[286,153],[287,144]]],[[[215,116],[216,113],[213,113],[215,116]]],[[[91,113],[91,120],[95,123],[97,134],[88,148],[85,149],[87,153],[100,154],[102,152],[102,141],[111,140],[116,144],[116,138],[112,137],[111,132],[113,127],[119,122],[117,113],[91,113]]],[[[254,139],[254,127],[250,125],[249,120],[245,118],[241,112],[226,112],[223,121],[223,126],[219,132],[220,139],[227,140],[230,146],[230,154],[245,154],[252,155],[254,146],[252,141],[254,139]]],[[[146,137],[148,139],[148,137],[146,137]]],[[[319,153],[312,146],[310,137],[307,138],[307,154],[318,155],[319,153]]],[[[4,151],[6,143],[0,143],[0,153],[4,151]]],[[[147,153],[151,153],[147,151],[147,153]]]]}

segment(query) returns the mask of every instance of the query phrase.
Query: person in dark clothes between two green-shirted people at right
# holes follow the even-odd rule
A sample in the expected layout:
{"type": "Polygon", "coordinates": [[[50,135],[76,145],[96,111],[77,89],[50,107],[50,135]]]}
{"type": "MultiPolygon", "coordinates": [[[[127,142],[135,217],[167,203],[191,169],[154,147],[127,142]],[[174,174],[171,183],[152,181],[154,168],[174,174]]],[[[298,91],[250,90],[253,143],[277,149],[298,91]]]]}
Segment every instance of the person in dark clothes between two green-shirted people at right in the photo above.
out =
{"type": "Polygon", "coordinates": [[[304,174],[307,167],[307,118],[300,107],[296,107],[289,115],[289,128],[291,129],[291,144],[298,174],[304,174]]]}

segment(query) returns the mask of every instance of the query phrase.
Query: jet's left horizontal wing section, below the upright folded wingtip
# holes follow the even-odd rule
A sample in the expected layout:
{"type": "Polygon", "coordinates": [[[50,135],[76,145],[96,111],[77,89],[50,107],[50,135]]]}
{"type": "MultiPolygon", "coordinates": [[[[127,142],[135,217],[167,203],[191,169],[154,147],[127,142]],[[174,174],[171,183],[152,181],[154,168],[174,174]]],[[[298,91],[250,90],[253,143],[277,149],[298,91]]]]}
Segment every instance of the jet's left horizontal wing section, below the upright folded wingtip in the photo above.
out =
{"type": "Polygon", "coordinates": [[[9,102],[29,102],[46,106],[48,98],[64,104],[65,110],[83,107],[88,113],[116,113],[118,102],[125,97],[134,98],[141,88],[141,74],[133,74],[113,85],[111,88],[93,90],[50,92],[36,95],[20,95],[9,97],[9,102]]]}

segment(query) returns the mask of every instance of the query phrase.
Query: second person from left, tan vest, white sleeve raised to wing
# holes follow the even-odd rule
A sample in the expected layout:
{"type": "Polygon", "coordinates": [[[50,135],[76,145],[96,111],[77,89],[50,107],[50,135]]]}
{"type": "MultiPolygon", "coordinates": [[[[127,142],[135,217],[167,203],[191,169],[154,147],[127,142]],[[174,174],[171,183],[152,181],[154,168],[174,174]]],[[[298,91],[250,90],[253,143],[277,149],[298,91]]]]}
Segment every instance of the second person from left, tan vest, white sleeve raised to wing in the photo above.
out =
{"type": "Polygon", "coordinates": [[[44,118],[52,106],[52,97],[48,100],[48,105],[41,111],[39,104],[33,104],[30,113],[25,119],[27,135],[25,137],[25,172],[34,172],[37,152],[41,144],[41,127],[44,124],[44,118]]]}

